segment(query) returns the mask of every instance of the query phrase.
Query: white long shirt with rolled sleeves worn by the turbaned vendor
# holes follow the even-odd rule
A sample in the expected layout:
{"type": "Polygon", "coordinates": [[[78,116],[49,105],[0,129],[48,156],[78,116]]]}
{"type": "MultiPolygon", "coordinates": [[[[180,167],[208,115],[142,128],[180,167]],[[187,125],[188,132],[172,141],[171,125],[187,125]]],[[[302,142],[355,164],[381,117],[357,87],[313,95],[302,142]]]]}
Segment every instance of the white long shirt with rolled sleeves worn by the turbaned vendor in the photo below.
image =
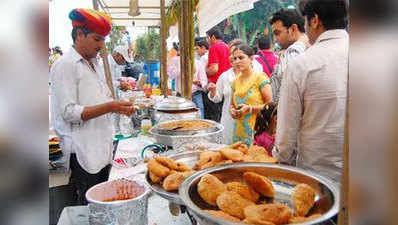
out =
{"type": "Polygon", "coordinates": [[[95,174],[112,160],[113,125],[110,114],[81,119],[84,107],[112,100],[105,75],[96,59],[92,63],[96,72],[71,48],[52,66],[51,118],[68,162],[69,154],[76,153],[81,167],[95,174]]]}

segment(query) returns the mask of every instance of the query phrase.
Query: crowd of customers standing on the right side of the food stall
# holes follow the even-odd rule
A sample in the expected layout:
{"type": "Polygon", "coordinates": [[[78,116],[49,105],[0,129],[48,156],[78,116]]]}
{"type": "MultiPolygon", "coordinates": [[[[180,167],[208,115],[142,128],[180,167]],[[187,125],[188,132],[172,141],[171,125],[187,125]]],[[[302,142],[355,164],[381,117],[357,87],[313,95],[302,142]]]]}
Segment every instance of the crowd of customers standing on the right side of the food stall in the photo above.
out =
{"type": "MultiPolygon", "coordinates": [[[[270,35],[253,47],[221,31],[195,42],[192,100],[201,117],[221,122],[223,143],[260,145],[279,162],[337,181],[347,97],[348,25],[343,0],[311,0],[273,13],[270,35]],[[272,51],[272,45],[281,51],[272,51]]],[[[180,81],[178,48],[168,64],[180,81]]],[[[177,92],[180,87],[177,88],[177,92]]]]}

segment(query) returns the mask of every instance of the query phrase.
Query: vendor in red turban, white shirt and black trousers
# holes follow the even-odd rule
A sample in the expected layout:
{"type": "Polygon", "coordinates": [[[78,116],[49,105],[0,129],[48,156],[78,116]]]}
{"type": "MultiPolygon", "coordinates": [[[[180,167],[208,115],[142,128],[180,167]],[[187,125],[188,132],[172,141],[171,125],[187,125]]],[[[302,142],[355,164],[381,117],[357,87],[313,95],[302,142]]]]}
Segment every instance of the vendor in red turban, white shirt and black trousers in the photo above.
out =
{"type": "Polygon", "coordinates": [[[70,155],[69,183],[77,203],[86,204],[87,189],[108,179],[113,150],[110,113],[131,115],[134,109],[130,102],[112,100],[96,60],[111,30],[109,16],[74,9],[69,18],[74,44],[51,69],[51,118],[68,162],[70,155]]]}

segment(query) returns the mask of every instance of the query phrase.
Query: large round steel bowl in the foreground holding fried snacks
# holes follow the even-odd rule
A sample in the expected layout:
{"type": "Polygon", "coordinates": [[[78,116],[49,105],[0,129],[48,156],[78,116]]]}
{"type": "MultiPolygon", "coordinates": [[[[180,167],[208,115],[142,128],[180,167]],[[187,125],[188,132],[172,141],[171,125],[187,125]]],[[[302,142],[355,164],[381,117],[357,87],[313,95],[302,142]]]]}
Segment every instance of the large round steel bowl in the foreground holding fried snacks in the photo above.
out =
{"type": "MultiPolygon", "coordinates": [[[[197,184],[200,178],[205,174],[213,174],[224,183],[231,181],[242,181],[243,173],[253,171],[271,179],[275,188],[275,197],[273,202],[279,202],[289,205],[291,208],[291,193],[295,185],[306,183],[316,190],[315,205],[309,212],[322,213],[321,217],[301,225],[322,224],[338,213],[340,194],[336,183],[315,174],[310,171],[302,170],[296,167],[273,165],[265,163],[234,163],[224,164],[217,167],[204,169],[192,174],[185,179],[179,188],[179,195],[184,205],[193,213],[195,219],[200,225],[235,225],[227,220],[216,218],[205,213],[204,209],[216,209],[202,200],[197,193],[197,184]]],[[[269,199],[268,201],[269,202],[269,199]]],[[[297,225],[295,224],[295,225],[297,225]]]]}

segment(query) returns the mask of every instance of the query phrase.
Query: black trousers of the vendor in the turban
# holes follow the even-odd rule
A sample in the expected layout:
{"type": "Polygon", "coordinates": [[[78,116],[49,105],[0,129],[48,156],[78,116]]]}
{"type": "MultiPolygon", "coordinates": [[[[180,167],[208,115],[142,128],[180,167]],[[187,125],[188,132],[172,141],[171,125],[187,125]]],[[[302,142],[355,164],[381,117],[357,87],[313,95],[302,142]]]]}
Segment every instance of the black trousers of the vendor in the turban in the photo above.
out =
{"type": "Polygon", "coordinates": [[[74,199],[77,205],[87,205],[86,192],[87,190],[99,183],[105,182],[109,178],[111,165],[107,165],[100,172],[91,174],[85,171],[79,164],[76,154],[70,155],[70,169],[72,174],[69,179],[73,192],[75,193],[74,199]]]}

